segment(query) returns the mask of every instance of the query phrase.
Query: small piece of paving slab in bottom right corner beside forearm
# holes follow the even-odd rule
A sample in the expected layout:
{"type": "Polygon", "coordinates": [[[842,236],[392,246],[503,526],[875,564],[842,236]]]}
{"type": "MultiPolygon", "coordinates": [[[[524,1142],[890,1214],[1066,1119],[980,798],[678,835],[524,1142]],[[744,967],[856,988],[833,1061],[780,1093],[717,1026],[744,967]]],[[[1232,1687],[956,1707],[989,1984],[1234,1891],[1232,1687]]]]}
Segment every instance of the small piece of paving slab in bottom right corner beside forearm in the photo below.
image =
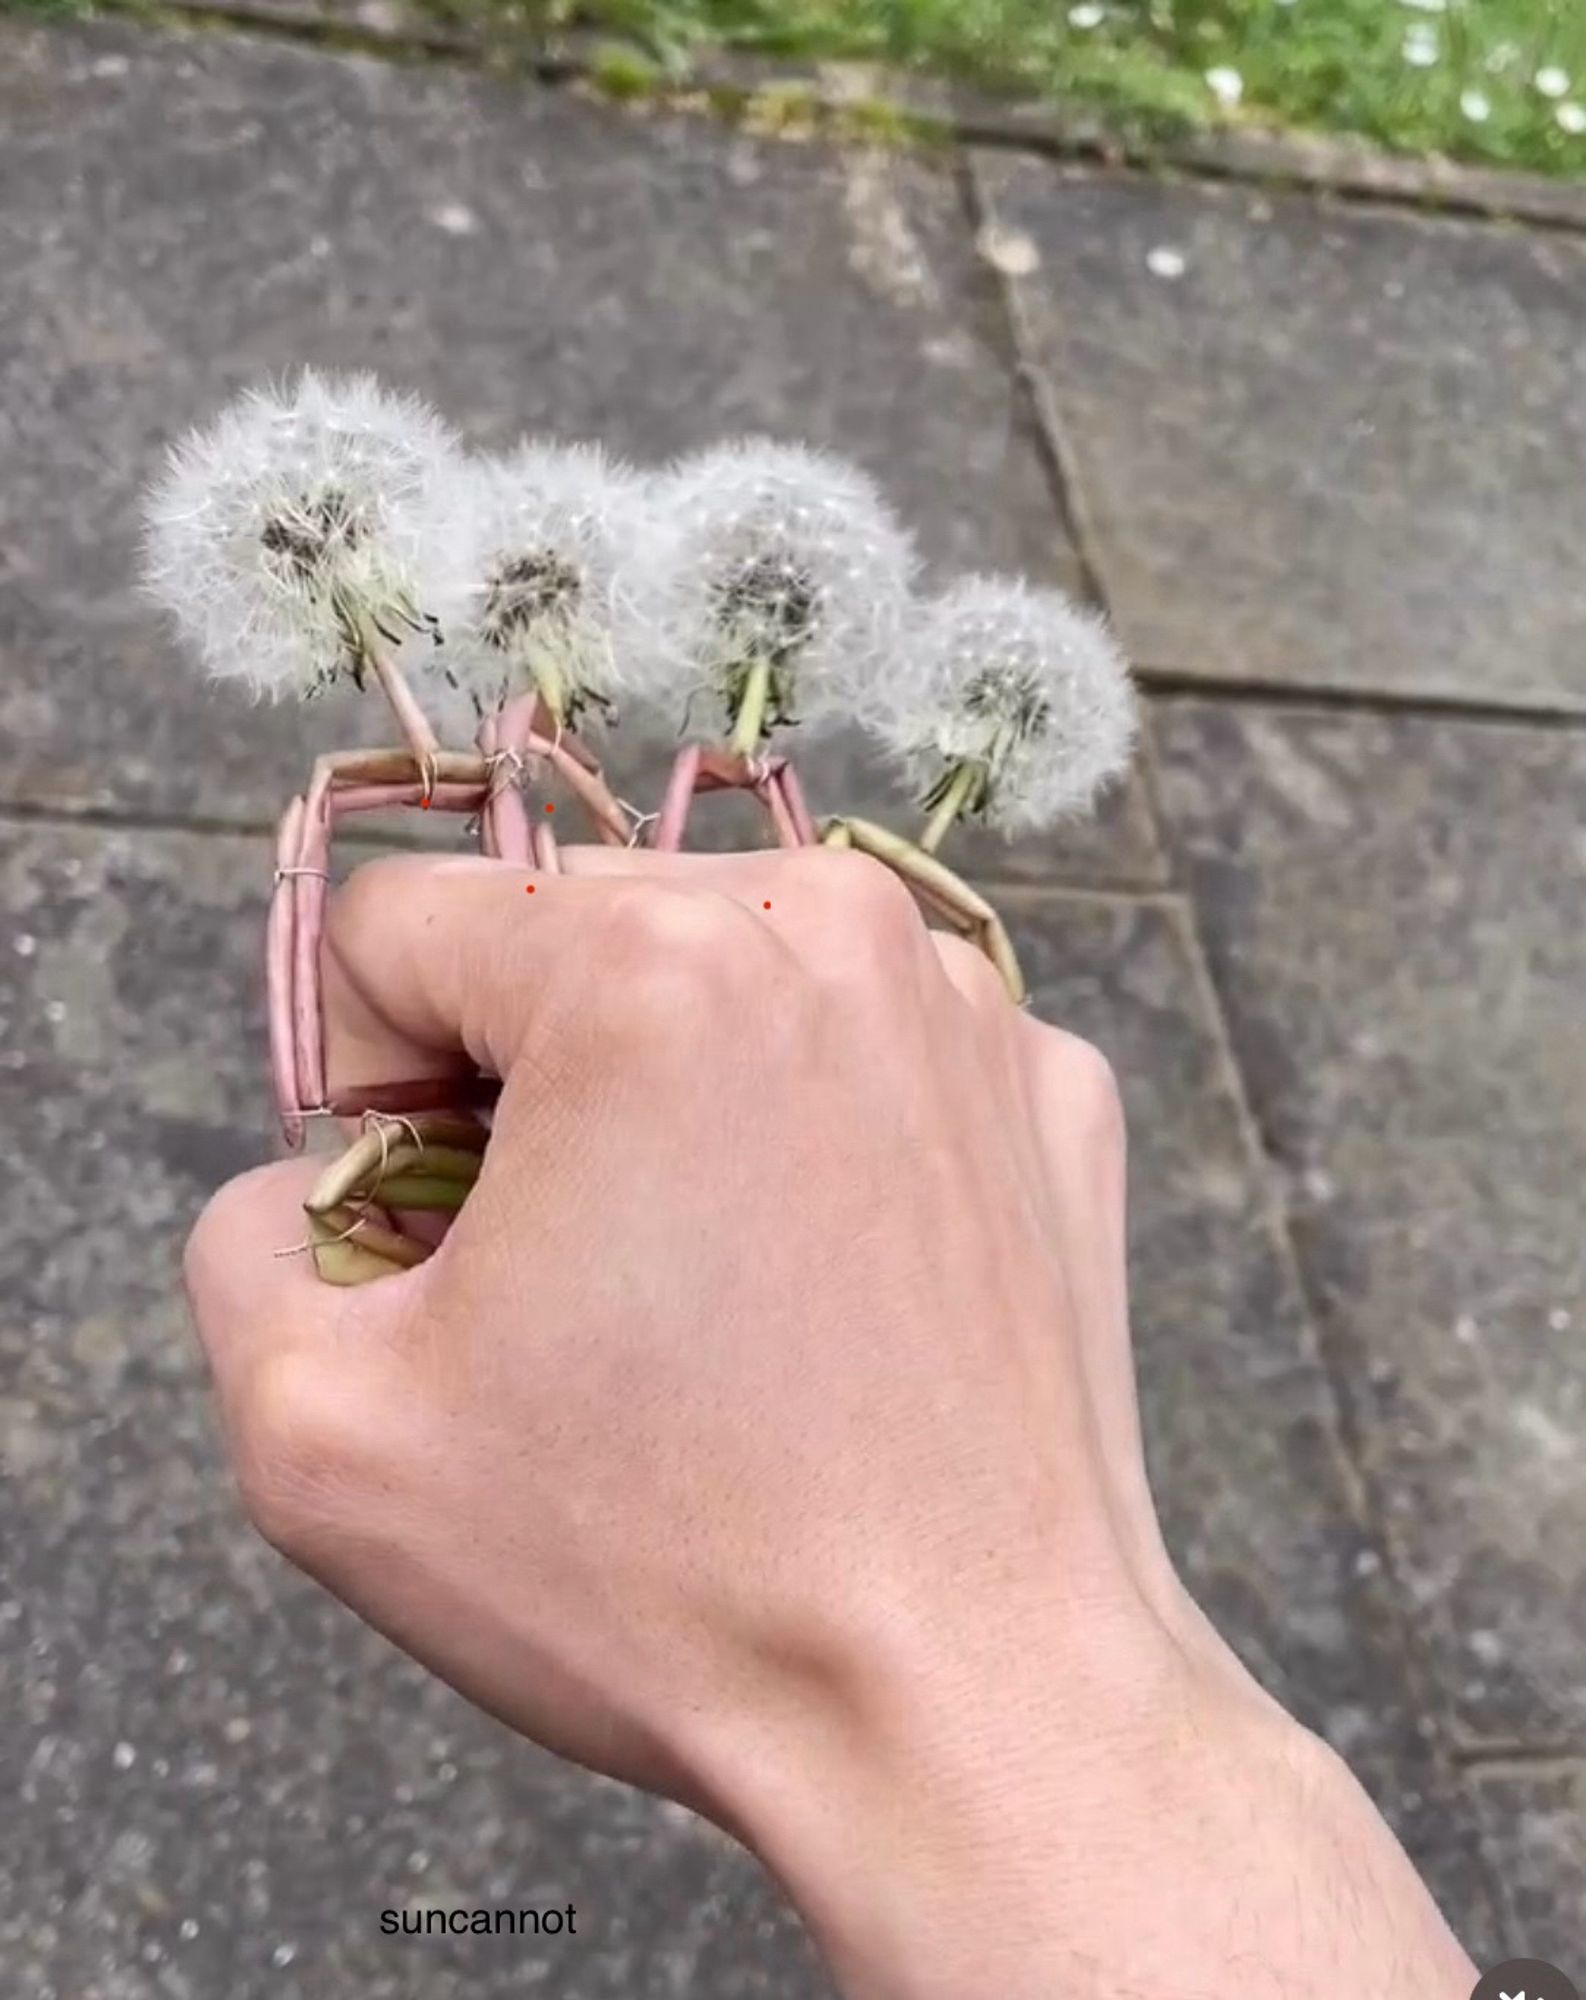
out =
{"type": "Polygon", "coordinates": [[[1546,1958],[1586,1978],[1586,1764],[1512,1766],[1476,1776],[1488,1814],[1522,1858],[1504,1958],[1546,1958]]]}

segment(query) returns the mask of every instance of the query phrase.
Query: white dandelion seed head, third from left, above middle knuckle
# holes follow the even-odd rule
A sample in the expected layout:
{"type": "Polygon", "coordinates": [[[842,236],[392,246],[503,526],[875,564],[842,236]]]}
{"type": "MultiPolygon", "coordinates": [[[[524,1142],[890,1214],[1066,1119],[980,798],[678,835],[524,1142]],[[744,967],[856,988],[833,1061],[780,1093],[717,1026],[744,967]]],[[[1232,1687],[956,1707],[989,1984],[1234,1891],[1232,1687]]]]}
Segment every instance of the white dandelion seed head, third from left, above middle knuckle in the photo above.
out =
{"type": "Polygon", "coordinates": [[[714,728],[764,664],[768,726],[822,722],[892,666],[914,548],[856,466],[744,438],[658,478],[652,516],[632,658],[674,716],[714,728]]]}

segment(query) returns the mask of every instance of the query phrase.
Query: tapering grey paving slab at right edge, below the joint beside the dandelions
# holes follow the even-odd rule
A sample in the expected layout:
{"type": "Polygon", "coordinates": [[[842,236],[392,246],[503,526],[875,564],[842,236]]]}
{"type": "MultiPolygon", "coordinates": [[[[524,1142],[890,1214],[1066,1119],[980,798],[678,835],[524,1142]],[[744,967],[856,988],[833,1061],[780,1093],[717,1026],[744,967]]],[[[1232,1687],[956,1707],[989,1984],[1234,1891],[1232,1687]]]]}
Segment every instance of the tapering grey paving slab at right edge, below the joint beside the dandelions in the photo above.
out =
{"type": "Polygon", "coordinates": [[[1442,1700],[1586,1744],[1586,734],[1154,712],[1160,794],[1442,1700]]]}

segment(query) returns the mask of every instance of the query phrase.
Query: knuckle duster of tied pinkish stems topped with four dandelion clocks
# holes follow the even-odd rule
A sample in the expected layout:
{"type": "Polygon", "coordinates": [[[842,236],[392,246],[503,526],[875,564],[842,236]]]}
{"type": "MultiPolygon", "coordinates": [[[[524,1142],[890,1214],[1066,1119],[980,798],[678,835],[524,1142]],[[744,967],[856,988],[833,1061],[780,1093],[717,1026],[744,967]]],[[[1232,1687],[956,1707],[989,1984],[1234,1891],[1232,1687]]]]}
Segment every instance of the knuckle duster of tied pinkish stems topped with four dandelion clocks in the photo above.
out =
{"type": "Polygon", "coordinates": [[[746,790],[768,840],[854,846],[1024,982],[992,906],[940,858],[962,820],[1006,836],[1094,806],[1128,764],[1134,692],[1098,618],[970,576],[920,590],[908,532],[856,466],[742,438],[660,470],[598,444],[466,454],[370,376],[250,390],[184,438],[144,512],[144,584],[216,680],[330,700],[376,688],[398,742],[314,766],[276,838],[266,932],[282,1130],[362,1118],[306,1202],[322,1278],[422,1262],[480,1172],[494,1078],[326,1086],[320,938],[350,812],[464,814],[486,854],[554,872],[528,794],[556,780],[596,840],[684,844],[694,800],[746,790]],[[654,810],[616,798],[590,740],[626,704],[680,748],[654,810]],[[908,784],[914,834],[816,826],[782,744],[860,724],[908,784]]]}

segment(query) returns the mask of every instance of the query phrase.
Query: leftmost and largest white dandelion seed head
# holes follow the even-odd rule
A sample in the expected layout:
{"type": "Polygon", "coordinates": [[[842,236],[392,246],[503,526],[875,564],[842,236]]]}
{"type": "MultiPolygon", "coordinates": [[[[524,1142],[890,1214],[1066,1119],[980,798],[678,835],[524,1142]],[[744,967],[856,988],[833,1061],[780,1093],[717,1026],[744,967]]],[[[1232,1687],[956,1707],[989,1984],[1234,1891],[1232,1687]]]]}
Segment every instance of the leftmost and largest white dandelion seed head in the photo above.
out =
{"type": "Polygon", "coordinates": [[[148,494],[146,588],[216,680],[320,692],[360,670],[360,634],[420,630],[426,504],[454,452],[438,416],[368,374],[248,390],[148,494]]]}

